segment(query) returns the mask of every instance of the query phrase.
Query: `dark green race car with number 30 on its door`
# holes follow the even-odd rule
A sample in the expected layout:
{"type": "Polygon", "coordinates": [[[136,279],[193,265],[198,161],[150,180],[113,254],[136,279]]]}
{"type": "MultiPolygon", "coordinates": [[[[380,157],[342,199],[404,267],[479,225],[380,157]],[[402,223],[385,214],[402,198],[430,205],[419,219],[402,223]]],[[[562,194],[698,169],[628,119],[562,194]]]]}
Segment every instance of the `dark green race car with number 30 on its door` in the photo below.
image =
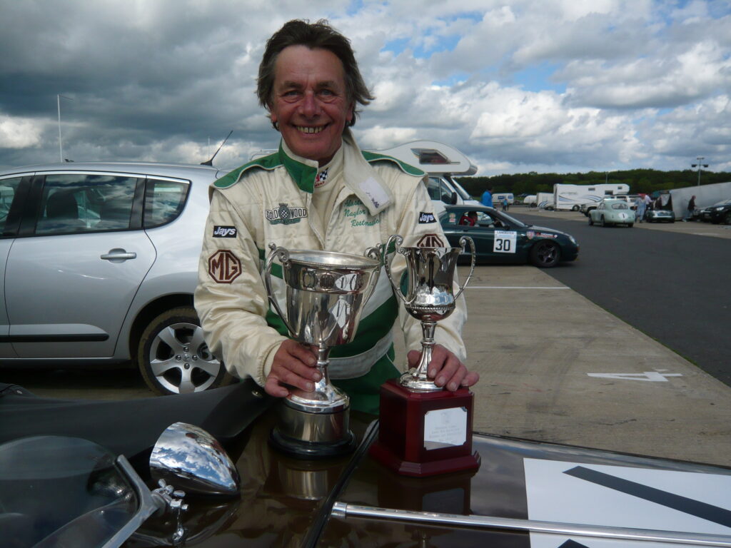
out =
{"type": "Polygon", "coordinates": [[[451,246],[459,246],[462,236],[471,237],[477,261],[482,263],[531,263],[550,268],[561,261],[573,261],[579,254],[572,235],[525,224],[486,206],[448,205],[439,222],[451,246]],[[469,218],[474,218],[474,226],[466,224],[469,218]]]}

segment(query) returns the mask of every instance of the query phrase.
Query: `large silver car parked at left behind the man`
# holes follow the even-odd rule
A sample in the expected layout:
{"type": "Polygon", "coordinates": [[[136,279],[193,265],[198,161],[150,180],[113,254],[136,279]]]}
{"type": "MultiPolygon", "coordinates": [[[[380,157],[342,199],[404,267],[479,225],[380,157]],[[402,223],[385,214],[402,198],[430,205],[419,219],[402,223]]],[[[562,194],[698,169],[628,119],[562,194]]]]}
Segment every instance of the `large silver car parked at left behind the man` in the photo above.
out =
{"type": "Polygon", "coordinates": [[[193,308],[218,176],[127,163],[0,172],[0,365],[132,360],[160,394],[230,382],[193,308]]]}

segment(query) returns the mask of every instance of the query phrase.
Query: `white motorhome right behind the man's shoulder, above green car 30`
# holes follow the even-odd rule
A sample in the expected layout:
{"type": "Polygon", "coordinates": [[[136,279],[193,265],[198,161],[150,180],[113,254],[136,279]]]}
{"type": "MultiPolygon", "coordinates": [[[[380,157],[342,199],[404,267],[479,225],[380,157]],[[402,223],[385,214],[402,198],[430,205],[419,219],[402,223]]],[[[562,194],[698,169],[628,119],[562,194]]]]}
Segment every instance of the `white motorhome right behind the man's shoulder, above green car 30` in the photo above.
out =
{"type": "Polygon", "coordinates": [[[455,175],[474,175],[477,166],[450,145],[438,141],[412,141],[371,152],[393,156],[427,172],[427,190],[437,215],[444,211],[444,205],[447,204],[481,205],[453,178],[455,175]]]}

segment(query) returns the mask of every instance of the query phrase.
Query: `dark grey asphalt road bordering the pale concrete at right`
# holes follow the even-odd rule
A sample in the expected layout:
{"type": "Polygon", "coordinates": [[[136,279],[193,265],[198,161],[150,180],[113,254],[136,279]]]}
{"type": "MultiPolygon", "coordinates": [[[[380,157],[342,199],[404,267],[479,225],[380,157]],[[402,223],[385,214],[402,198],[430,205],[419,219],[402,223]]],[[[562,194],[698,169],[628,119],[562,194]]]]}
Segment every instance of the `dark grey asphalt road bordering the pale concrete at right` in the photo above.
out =
{"type": "Polygon", "coordinates": [[[579,260],[547,270],[553,278],[731,386],[731,240],[678,233],[722,227],[602,228],[580,213],[510,213],[579,241],[579,260]]]}

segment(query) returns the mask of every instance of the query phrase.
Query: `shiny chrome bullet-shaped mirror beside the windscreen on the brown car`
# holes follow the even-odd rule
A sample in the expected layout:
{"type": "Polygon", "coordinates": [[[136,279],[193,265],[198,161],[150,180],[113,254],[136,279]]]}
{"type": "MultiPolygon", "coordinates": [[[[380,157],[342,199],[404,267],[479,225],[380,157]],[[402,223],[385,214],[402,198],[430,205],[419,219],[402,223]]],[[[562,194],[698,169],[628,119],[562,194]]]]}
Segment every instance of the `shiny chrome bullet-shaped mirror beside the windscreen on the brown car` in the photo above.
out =
{"type": "Polygon", "coordinates": [[[150,456],[152,477],[198,495],[238,495],[240,476],[211,434],[185,422],[167,427],[150,456]]]}

